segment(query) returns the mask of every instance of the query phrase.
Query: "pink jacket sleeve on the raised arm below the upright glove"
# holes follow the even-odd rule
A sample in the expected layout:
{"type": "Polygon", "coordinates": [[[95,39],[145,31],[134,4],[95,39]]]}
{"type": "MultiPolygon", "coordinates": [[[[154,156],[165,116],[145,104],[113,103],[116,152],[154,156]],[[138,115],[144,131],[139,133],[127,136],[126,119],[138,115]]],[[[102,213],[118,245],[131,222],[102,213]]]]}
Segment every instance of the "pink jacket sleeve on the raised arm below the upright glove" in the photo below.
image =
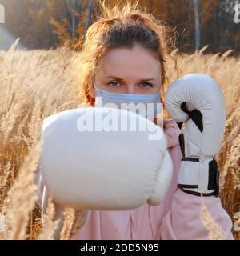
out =
{"type": "MultiPolygon", "coordinates": [[[[170,203],[170,210],[162,219],[159,227],[159,236],[162,240],[189,240],[209,239],[209,231],[204,226],[200,217],[202,198],[193,194],[187,194],[178,189],[178,171],[180,165],[179,146],[170,148],[170,154],[174,162],[173,183],[175,191],[170,203]]],[[[222,208],[220,198],[214,196],[203,197],[206,210],[214,222],[218,224],[224,234],[224,239],[233,239],[231,234],[232,222],[229,215],[222,208]]]]}

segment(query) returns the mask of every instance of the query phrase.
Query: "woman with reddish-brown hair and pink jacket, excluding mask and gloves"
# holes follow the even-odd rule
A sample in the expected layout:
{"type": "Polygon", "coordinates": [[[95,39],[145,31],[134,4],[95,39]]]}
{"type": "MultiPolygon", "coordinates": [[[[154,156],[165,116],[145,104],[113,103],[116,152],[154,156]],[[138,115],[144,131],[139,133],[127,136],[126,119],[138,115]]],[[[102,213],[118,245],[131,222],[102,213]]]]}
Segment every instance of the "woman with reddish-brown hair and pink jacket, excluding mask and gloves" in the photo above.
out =
{"type": "MultiPolygon", "coordinates": [[[[90,106],[98,92],[149,94],[166,90],[165,58],[168,54],[166,29],[151,14],[127,4],[122,10],[103,5],[102,18],[90,26],[82,48],[80,100],[90,106]]],[[[79,73],[80,74],[80,73],[79,73]]],[[[156,120],[154,119],[154,122],[156,120]]],[[[178,145],[180,130],[174,120],[164,118],[163,129],[174,175],[161,205],[145,203],[134,210],[91,210],[79,230],[78,239],[206,239],[208,231],[199,216],[201,198],[178,189],[178,170],[182,153],[178,145]]],[[[42,175],[35,178],[45,210],[48,198],[42,175]]],[[[215,222],[222,227],[225,238],[232,239],[232,223],[220,199],[204,198],[215,222]]],[[[63,207],[55,204],[56,218],[62,219],[63,207]]],[[[59,226],[60,229],[60,226],[59,226]]],[[[58,229],[58,230],[59,230],[58,229]]],[[[58,238],[58,236],[56,237],[58,238]]]]}

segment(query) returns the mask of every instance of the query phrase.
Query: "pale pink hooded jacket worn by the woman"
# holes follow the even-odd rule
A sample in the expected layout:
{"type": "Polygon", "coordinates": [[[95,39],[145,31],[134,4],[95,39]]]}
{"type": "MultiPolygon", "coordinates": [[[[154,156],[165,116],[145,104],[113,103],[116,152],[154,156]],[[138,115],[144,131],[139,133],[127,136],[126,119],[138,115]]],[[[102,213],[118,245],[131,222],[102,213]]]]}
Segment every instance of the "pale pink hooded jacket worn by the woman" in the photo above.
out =
{"type": "MultiPolygon", "coordinates": [[[[178,189],[178,170],[182,153],[178,145],[180,130],[173,119],[167,119],[164,127],[168,150],[173,161],[174,174],[162,204],[150,206],[147,203],[134,210],[89,210],[86,222],[78,231],[79,240],[163,240],[163,239],[207,239],[208,231],[199,216],[201,197],[186,194],[178,189]]],[[[44,186],[39,169],[34,174],[34,183],[38,186],[38,202],[42,214],[46,210],[49,192],[44,186]]],[[[222,208],[219,198],[204,197],[204,203],[214,221],[222,227],[226,239],[233,239],[232,222],[222,208]]],[[[63,206],[54,203],[55,218],[63,220],[63,206]]],[[[80,213],[77,211],[77,214],[80,213]]],[[[61,225],[58,226],[58,231],[61,225]]],[[[59,234],[56,234],[58,238],[59,234]]]]}

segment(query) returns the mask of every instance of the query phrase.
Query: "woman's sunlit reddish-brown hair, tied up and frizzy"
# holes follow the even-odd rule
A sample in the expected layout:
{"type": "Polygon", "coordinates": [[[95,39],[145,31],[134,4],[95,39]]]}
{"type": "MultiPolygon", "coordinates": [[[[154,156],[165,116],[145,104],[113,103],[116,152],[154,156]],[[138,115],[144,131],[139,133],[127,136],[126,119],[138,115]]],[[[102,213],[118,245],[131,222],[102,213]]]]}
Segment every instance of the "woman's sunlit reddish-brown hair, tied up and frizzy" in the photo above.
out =
{"type": "MultiPolygon", "coordinates": [[[[85,41],[82,44],[82,53],[79,54],[79,101],[94,106],[95,100],[90,94],[90,89],[93,86],[99,61],[107,50],[120,47],[131,49],[138,44],[151,50],[161,63],[161,100],[164,105],[166,83],[168,82],[166,55],[170,55],[170,45],[174,46],[173,38],[168,38],[167,34],[172,30],[163,26],[162,22],[154,18],[152,14],[138,7],[138,1],[134,5],[126,2],[122,7],[118,2],[114,8],[106,7],[105,1],[101,1],[100,7],[102,14],[87,30],[85,41]]],[[[178,72],[175,58],[174,63],[178,72]]],[[[164,111],[166,111],[165,108],[164,111]]]]}

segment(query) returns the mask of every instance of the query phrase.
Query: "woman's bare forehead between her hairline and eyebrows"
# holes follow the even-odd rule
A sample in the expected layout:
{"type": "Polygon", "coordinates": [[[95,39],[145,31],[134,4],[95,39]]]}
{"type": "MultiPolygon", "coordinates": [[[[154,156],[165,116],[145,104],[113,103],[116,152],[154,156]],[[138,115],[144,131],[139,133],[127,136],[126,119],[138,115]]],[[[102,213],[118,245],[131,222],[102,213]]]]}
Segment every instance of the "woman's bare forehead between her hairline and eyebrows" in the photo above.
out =
{"type": "Polygon", "coordinates": [[[141,46],[132,49],[117,48],[106,52],[100,62],[102,75],[114,75],[120,78],[155,77],[161,74],[161,64],[150,50],[141,46]]]}

